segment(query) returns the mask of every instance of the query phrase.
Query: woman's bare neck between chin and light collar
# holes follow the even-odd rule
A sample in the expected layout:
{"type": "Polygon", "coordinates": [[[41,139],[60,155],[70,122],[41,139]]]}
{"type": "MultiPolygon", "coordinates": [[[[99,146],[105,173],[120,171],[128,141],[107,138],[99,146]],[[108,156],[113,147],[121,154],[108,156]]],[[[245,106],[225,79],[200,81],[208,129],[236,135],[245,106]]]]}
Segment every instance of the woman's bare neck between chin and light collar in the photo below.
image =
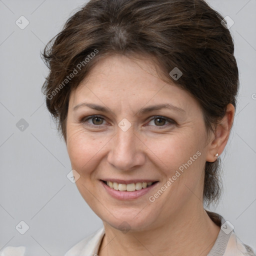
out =
{"type": "Polygon", "coordinates": [[[105,235],[98,255],[206,256],[208,254],[220,228],[210,219],[202,206],[194,212],[179,211],[168,219],[169,222],[156,228],[127,233],[103,222],[105,235]]]}

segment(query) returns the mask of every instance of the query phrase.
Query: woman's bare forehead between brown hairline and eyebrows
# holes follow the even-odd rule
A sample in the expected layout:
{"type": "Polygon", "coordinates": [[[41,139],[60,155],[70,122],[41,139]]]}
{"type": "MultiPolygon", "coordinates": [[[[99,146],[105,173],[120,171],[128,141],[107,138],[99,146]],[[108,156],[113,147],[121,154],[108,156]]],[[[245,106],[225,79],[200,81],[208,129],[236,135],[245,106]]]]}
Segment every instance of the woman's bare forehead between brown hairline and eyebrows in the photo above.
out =
{"type": "Polygon", "coordinates": [[[72,91],[70,101],[75,105],[88,99],[116,107],[120,107],[120,102],[122,107],[168,102],[186,107],[191,100],[196,104],[187,91],[160,79],[158,70],[150,57],[108,56],[98,61],[72,91]]]}

